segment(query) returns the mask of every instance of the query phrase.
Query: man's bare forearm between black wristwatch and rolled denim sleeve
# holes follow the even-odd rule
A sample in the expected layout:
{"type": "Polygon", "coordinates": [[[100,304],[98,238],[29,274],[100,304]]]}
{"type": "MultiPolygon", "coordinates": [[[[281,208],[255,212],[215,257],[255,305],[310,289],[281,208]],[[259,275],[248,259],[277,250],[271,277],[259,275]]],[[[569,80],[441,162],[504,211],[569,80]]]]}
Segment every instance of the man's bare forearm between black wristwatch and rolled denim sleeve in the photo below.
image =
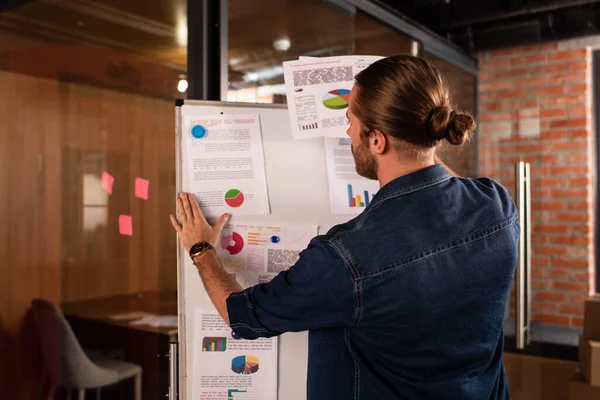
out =
{"type": "Polygon", "coordinates": [[[225,271],[223,264],[212,250],[194,257],[194,265],[200,273],[208,297],[210,297],[223,321],[229,326],[227,298],[231,293],[241,292],[242,287],[225,271]]]}

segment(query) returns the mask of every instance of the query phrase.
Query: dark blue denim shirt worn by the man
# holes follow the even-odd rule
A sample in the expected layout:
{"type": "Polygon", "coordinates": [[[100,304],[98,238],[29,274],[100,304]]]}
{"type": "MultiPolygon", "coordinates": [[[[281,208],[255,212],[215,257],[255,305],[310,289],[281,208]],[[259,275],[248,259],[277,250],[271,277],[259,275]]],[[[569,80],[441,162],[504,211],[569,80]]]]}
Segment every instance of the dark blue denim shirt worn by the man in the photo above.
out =
{"type": "Polygon", "coordinates": [[[508,399],[518,236],[504,187],[429,167],[385,185],[271,282],[231,294],[231,327],[248,339],[309,330],[309,400],[508,399]]]}

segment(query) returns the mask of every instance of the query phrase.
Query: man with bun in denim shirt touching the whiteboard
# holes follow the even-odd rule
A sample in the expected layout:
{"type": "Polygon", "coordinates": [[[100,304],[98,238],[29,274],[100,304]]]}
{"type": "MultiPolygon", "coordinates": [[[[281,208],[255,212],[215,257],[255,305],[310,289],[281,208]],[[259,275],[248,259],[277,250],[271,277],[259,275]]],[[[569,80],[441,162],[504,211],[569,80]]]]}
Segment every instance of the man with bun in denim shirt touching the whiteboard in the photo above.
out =
{"type": "Polygon", "coordinates": [[[224,270],[193,196],[173,226],[227,324],[253,339],[309,330],[309,399],[508,399],[503,317],[519,226],[507,191],[436,163],[475,121],[412,56],[356,76],[347,112],[357,172],[381,189],[298,262],[246,290],[224,270]]]}

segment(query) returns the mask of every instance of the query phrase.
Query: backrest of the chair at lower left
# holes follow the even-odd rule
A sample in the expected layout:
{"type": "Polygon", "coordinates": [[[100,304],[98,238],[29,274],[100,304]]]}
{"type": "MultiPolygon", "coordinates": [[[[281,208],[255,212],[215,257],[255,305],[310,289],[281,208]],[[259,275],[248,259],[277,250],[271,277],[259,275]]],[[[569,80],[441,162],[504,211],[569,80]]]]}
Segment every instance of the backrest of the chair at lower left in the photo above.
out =
{"type": "Polygon", "coordinates": [[[31,304],[50,387],[77,385],[95,365],[85,354],[60,308],[51,301],[31,304]]]}

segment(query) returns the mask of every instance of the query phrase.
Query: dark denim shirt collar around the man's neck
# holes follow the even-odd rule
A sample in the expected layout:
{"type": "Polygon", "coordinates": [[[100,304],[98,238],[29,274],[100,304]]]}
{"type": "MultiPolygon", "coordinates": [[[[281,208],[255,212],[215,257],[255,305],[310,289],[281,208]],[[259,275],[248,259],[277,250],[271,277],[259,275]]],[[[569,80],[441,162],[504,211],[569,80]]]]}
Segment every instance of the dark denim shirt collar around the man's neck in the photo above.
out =
{"type": "Polygon", "coordinates": [[[373,208],[378,203],[396,196],[416,192],[427,187],[437,185],[440,182],[452,178],[450,173],[441,164],[427,167],[408,175],[403,175],[387,183],[379,189],[368,208],[373,208]]]}

